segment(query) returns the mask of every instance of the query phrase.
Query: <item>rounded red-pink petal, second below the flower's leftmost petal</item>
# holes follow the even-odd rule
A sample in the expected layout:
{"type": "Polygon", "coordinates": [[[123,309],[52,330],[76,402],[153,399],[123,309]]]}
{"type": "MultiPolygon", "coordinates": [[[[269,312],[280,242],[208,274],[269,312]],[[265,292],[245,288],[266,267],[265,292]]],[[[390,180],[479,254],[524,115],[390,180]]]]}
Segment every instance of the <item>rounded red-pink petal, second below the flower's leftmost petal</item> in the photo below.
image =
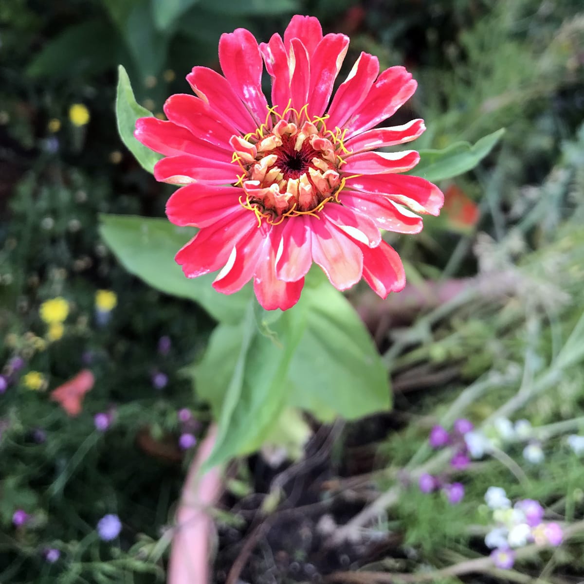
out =
{"type": "Polygon", "coordinates": [[[166,216],[175,225],[208,227],[237,211],[241,189],[201,183],[176,190],[166,203],[166,216]]]}

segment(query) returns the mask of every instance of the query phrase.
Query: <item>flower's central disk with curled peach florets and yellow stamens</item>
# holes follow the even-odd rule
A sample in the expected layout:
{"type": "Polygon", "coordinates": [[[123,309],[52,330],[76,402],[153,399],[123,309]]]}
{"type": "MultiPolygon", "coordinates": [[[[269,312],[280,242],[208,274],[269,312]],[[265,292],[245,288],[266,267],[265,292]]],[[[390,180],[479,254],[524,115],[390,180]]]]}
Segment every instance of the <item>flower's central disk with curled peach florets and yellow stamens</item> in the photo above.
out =
{"type": "Polygon", "coordinates": [[[324,119],[307,120],[293,112],[289,121],[270,110],[266,123],[244,137],[234,135],[233,162],[242,170],[235,186],[244,194],[239,202],[258,222],[272,225],[294,215],[316,215],[329,201],[338,203],[344,185],[339,154],[346,152],[342,132],[326,129],[324,119]]]}

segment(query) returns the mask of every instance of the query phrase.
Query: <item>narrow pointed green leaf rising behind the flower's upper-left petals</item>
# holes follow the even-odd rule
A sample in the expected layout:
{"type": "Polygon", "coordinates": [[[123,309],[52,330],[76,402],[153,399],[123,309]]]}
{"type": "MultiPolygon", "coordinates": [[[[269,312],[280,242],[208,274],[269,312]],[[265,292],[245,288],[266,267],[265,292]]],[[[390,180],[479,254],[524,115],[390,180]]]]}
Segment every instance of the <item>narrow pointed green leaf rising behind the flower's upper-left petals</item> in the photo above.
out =
{"type": "Polygon", "coordinates": [[[150,117],[152,112],[136,103],[130,78],[128,78],[126,69],[122,65],[119,65],[118,73],[116,96],[117,130],[120,133],[121,141],[126,144],[128,150],[140,162],[142,168],[148,172],[154,172],[154,165],[162,158],[162,155],[153,152],[134,138],[136,120],[140,117],[150,117]]]}

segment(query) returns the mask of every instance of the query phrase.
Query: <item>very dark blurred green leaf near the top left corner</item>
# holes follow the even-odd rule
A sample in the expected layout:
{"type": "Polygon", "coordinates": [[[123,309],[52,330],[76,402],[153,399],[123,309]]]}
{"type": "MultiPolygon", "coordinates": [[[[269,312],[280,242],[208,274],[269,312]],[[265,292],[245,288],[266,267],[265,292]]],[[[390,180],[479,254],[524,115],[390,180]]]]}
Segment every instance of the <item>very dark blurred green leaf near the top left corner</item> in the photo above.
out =
{"type": "Polygon", "coordinates": [[[47,41],[26,68],[30,77],[74,79],[96,75],[113,67],[120,58],[120,43],[112,27],[99,19],[67,27],[47,41]],[[107,45],[107,51],[103,46],[107,45]]]}

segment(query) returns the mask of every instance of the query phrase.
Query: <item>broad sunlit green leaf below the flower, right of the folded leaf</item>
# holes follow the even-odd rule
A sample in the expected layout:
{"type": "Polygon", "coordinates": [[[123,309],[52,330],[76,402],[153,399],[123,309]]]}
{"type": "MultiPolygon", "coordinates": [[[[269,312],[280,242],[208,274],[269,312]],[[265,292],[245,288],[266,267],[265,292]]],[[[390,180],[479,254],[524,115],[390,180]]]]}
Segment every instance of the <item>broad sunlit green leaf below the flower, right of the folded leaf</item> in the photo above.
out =
{"type": "Polygon", "coordinates": [[[292,310],[298,308],[305,311],[307,326],[288,373],[294,385],[290,405],[324,421],[390,408],[387,369],[346,298],[325,281],[305,287],[292,310]]]}

